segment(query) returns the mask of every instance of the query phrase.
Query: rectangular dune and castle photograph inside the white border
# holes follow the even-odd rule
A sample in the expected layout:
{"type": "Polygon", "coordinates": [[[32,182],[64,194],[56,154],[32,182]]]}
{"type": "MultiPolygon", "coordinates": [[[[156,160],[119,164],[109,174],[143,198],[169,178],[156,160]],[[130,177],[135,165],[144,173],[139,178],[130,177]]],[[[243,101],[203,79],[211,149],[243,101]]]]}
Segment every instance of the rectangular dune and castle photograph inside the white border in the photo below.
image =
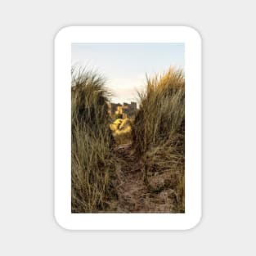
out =
{"type": "Polygon", "coordinates": [[[72,43],[71,59],[71,213],[186,213],[185,43],[72,43]]]}

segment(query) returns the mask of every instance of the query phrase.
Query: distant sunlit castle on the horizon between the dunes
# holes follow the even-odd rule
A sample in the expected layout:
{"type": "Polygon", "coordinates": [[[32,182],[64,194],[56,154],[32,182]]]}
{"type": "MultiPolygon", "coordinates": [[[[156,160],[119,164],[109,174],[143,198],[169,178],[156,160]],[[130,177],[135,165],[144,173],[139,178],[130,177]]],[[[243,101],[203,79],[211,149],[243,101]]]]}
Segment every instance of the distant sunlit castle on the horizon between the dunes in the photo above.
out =
{"type": "Polygon", "coordinates": [[[132,102],[131,104],[128,104],[124,102],[123,105],[120,103],[110,103],[109,112],[110,115],[120,115],[120,118],[126,119],[126,118],[134,118],[135,113],[137,110],[137,103],[132,102]]]}

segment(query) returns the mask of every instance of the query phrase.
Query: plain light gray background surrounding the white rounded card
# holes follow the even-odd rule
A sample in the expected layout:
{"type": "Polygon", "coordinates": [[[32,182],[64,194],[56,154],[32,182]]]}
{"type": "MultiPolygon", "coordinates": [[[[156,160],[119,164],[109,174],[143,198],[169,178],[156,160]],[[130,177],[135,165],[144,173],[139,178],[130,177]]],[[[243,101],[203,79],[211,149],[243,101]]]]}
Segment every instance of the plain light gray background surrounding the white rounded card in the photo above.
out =
{"type": "Polygon", "coordinates": [[[2,1],[2,255],[255,254],[254,1],[2,1]],[[53,218],[53,38],[190,25],[203,38],[203,218],[191,231],[65,231],[53,218]]]}

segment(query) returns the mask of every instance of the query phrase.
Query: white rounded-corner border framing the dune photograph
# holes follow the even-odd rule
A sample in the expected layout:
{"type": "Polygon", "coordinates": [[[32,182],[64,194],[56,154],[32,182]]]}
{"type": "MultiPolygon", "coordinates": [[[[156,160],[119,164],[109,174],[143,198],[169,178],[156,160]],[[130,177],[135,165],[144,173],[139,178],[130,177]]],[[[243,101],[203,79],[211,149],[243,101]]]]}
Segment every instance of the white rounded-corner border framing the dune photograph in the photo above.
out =
{"type": "Polygon", "coordinates": [[[68,230],[190,230],[201,220],[201,36],[189,26],[66,26],[55,36],[55,219],[68,230]],[[185,213],[71,213],[71,43],[185,43],[185,213]]]}

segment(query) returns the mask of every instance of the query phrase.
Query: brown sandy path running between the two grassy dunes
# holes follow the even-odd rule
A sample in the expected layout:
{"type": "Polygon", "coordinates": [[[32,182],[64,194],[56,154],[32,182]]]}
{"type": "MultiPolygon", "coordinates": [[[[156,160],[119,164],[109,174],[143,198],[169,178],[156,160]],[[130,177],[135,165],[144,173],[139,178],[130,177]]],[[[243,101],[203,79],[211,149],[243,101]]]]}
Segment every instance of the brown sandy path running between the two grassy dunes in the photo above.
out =
{"type": "Polygon", "coordinates": [[[166,191],[152,193],[144,182],[142,164],[132,155],[131,144],[115,148],[118,200],[111,203],[115,213],[170,213],[172,200],[166,191]]]}

